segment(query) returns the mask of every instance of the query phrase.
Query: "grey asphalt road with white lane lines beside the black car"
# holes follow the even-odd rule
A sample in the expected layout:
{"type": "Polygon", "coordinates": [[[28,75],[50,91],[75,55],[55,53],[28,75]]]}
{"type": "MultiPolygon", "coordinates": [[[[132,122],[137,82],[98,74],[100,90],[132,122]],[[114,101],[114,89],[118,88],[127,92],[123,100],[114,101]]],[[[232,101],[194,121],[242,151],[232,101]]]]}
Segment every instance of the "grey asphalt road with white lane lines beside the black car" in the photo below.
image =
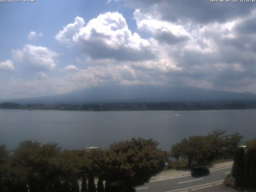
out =
{"type": "Polygon", "coordinates": [[[210,170],[210,175],[192,177],[191,175],[178,176],[162,180],[152,180],[136,187],[136,192],[181,192],[195,188],[202,188],[224,181],[232,166],[210,170]]]}

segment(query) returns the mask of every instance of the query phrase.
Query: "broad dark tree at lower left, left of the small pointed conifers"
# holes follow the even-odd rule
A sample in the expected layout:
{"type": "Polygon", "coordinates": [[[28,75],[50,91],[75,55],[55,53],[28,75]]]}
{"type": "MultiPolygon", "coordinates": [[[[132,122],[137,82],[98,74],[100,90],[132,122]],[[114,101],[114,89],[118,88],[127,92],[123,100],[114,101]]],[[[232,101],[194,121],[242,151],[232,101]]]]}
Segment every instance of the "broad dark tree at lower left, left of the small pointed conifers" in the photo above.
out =
{"type": "Polygon", "coordinates": [[[70,184],[78,179],[79,172],[78,155],[62,151],[54,143],[24,141],[12,157],[12,180],[18,186],[28,185],[30,192],[70,191],[70,184]]]}

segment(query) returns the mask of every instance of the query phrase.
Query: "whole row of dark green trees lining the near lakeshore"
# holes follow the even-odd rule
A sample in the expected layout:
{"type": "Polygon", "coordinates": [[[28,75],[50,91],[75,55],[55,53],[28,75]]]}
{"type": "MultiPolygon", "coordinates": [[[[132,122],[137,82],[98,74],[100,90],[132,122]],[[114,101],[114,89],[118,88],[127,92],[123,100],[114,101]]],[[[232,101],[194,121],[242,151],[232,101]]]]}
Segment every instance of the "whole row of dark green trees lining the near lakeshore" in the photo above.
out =
{"type": "Polygon", "coordinates": [[[20,142],[13,151],[2,145],[0,192],[132,192],[160,171],[178,167],[179,158],[187,167],[233,159],[242,138],[239,133],[214,130],[206,136],[183,138],[170,152],[143,138],[90,152],[36,141],[20,142]]]}

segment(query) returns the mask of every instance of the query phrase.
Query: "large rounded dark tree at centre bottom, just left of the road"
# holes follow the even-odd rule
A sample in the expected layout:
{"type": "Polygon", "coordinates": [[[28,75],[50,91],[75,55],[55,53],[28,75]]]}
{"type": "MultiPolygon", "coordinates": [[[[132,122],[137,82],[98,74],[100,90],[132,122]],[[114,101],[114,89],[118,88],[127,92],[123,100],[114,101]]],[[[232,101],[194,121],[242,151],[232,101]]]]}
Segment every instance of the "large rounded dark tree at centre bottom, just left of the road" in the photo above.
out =
{"type": "Polygon", "coordinates": [[[132,191],[164,168],[164,154],[152,139],[132,138],[106,151],[106,191],[132,191]]]}

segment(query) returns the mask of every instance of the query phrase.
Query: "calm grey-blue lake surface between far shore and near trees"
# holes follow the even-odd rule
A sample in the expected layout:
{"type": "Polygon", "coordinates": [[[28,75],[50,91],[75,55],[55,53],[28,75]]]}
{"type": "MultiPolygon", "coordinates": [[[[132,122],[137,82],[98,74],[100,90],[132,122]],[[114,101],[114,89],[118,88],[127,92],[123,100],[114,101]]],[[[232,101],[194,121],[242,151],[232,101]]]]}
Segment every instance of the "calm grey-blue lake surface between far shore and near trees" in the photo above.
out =
{"type": "Polygon", "coordinates": [[[154,138],[170,150],[183,137],[216,129],[256,138],[256,110],[54,111],[0,109],[0,144],[16,148],[23,140],[57,142],[67,149],[97,146],[132,137],[154,138]],[[180,114],[180,115],[175,115],[180,114]]]}

